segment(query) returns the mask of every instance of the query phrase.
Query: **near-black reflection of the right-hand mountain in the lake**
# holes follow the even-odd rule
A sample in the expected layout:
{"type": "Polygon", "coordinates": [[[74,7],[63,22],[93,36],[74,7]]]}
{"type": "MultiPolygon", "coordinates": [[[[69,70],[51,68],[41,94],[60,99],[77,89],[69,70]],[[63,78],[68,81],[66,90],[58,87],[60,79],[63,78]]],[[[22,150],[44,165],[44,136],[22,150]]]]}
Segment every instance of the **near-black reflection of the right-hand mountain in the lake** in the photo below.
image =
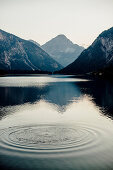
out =
{"type": "Polygon", "coordinates": [[[93,97],[93,101],[101,107],[104,114],[113,117],[113,82],[110,81],[88,81],[79,82],[83,94],[93,97]]]}

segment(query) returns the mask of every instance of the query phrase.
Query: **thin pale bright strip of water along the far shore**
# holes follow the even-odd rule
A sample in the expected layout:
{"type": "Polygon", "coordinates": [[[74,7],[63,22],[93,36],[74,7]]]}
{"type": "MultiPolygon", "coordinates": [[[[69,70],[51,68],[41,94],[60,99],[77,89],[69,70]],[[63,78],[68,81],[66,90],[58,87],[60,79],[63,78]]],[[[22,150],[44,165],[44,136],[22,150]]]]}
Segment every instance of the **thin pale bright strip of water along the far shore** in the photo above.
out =
{"type": "Polygon", "coordinates": [[[0,87],[40,87],[45,86],[50,82],[78,82],[88,81],[72,76],[31,76],[31,77],[0,77],[0,87]]]}

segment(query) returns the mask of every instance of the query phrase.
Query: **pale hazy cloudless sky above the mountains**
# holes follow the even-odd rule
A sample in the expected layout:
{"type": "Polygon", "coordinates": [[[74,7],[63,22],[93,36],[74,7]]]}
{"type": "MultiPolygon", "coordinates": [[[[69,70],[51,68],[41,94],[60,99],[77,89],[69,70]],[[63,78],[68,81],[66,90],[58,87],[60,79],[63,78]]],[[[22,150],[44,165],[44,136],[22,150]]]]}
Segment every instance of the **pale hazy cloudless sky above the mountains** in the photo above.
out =
{"type": "Polygon", "coordinates": [[[45,43],[65,34],[89,45],[113,26],[113,0],[0,0],[0,28],[45,43]]]}

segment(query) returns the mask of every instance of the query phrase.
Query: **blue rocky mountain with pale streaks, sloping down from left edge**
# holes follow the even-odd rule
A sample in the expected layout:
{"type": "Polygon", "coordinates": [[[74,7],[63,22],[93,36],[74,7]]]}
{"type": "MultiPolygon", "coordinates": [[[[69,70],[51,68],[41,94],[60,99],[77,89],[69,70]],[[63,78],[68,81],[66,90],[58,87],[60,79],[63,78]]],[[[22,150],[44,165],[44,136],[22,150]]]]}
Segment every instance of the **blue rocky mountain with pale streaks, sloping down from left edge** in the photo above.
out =
{"type": "Polygon", "coordinates": [[[36,44],[0,30],[0,70],[55,71],[62,66],[36,44]]]}

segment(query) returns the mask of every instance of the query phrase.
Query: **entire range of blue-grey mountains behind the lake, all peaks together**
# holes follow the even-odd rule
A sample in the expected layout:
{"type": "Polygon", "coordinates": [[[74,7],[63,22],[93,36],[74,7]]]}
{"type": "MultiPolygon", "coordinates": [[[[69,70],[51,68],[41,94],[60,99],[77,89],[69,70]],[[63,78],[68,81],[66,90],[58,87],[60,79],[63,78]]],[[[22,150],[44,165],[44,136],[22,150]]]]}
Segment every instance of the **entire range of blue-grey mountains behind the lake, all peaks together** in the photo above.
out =
{"type": "Polygon", "coordinates": [[[113,27],[102,32],[85,50],[64,35],[40,46],[33,40],[24,40],[0,30],[0,70],[21,70],[22,73],[23,70],[27,70],[26,73],[56,71],[60,74],[100,74],[101,70],[107,75],[113,72],[113,27]],[[76,59],[77,54],[80,55],[76,59]]]}

